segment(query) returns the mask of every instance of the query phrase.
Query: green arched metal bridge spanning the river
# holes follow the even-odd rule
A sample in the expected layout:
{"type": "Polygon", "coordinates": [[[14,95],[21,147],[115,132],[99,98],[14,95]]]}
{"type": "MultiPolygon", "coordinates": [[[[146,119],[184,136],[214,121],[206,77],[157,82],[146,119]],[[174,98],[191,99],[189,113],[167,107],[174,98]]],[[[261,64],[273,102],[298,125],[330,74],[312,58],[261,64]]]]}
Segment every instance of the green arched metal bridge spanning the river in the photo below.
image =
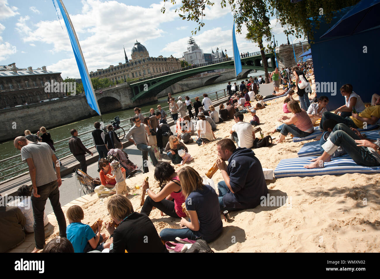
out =
{"type": "MultiPolygon", "coordinates": [[[[268,59],[268,63],[275,65],[275,56],[273,53],[266,53],[265,56],[268,59]]],[[[261,60],[260,52],[254,52],[249,54],[248,57],[241,58],[242,72],[239,74],[240,78],[247,77],[250,71],[255,69],[264,71],[261,60]]],[[[144,79],[137,80],[137,82],[129,82],[128,85],[130,86],[133,94],[132,101],[136,101],[142,97],[146,98],[155,96],[165,88],[168,88],[170,85],[173,85],[182,79],[217,69],[234,69],[233,57],[224,58],[224,60],[220,61],[214,61],[214,63],[204,63],[153,77],[146,77],[144,79]]],[[[274,71],[274,68],[268,68],[268,72],[271,71],[274,71]]],[[[212,77],[211,79],[216,78],[217,77],[212,77]]]]}

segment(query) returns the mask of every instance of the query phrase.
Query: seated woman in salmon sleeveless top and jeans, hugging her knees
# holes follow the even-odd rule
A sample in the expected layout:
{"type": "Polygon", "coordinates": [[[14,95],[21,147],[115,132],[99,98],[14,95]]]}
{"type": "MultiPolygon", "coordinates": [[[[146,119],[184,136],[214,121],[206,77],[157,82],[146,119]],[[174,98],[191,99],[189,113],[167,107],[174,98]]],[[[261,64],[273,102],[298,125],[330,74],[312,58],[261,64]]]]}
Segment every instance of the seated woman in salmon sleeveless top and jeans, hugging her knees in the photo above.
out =
{"type": "Polygon", "coordinates": [[[288,102],[288,110],[293,113],[291,117],[282,116],[279,121],[284,123],[278,126],[273,132],[280,132],[281,136],[277,143],[282,142],[290,132],[294,137],[306,137],[312,134],[314,126],[307,112],[299,107],[298,102],[288,102]]]}

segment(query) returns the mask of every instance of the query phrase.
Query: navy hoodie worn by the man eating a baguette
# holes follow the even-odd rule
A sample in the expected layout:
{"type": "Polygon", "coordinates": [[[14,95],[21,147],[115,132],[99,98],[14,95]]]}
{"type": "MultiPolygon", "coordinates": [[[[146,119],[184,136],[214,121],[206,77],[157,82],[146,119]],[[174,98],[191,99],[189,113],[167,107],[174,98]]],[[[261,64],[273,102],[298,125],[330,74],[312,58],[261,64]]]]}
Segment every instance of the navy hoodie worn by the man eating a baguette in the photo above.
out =
{"type": "Polygon", "coordinates": [[[223,196],[225,207],[255,208],[266,196],[268,188],[265,183],[263,168],[255,153],[249,148],[237,148],[228,159],[227,173],[231,189],[223,196]]]}

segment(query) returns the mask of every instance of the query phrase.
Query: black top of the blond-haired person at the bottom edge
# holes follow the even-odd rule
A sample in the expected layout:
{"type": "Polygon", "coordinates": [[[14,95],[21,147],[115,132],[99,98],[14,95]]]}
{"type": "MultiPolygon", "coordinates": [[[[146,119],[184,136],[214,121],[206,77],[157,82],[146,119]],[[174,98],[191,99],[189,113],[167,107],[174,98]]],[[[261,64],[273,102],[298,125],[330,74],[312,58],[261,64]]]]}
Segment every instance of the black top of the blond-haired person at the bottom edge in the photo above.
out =
{"type": "Polygon", "coordinates": [[[134,212],[114,231],[110,253],[167,253],[149,217],[134,212]],[[112,248],[112,249],[111,249],[112,248]]]}

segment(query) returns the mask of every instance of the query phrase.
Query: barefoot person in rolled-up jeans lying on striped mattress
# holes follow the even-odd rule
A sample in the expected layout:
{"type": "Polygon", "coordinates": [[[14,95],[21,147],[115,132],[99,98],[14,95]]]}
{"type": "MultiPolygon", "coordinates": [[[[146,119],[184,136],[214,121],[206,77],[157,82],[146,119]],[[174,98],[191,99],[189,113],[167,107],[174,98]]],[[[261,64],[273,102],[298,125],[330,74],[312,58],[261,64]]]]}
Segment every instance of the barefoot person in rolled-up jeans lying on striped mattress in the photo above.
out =
{"type": "MultiPolygon", "coordinates": [[[[323,143],[323,137],[320,141],[323,143]]],[[[311,160],[306,169],[323,168],[325,162],[331,161],[331,156],[341,147],[353,161],[361,166],[380,166],[380,131],[377,140],[365,139],[355,128],[339,123],[335,125],[325,143],[321,145],[323,154],[311,160]]]]}

